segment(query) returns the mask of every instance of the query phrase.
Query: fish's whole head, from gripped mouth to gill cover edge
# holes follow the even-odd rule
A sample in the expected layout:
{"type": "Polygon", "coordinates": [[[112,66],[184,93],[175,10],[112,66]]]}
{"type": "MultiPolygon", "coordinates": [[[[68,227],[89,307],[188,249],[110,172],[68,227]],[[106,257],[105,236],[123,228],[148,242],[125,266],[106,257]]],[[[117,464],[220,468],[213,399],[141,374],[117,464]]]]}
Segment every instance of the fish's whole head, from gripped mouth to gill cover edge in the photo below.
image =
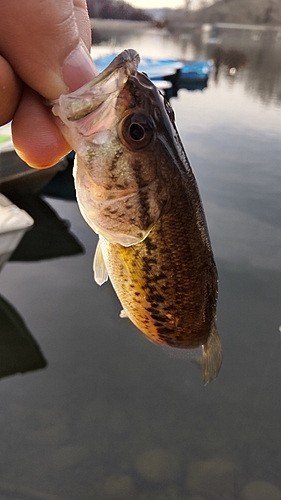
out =
{"type": "Polygon", "coordinates": [[[107,241],[124,246],[142,241],[160,217],[167,201],[160,167],[175,142],[172,108],[138,71],[139,61],[135,50],[124,50],[92,82],[53,106],[77,153],[82,215],[107,241]]]}

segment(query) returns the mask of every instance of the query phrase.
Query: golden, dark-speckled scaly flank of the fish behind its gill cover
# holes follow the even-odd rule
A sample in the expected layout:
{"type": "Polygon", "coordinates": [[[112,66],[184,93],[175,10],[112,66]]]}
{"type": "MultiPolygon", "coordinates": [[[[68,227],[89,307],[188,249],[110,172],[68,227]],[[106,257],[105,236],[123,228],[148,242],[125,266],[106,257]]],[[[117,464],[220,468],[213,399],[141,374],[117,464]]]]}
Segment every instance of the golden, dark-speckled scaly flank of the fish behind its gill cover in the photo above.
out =
{"type": "MultiPolygon", "coordinates": [[[[139,323],[142,322],[140,319],[141,314],[145,313],[144,317],[147,317],[147,311],[150,309],[149,313],[152,321],[148,327],[140,327],[142,331],[145,329],[144,333],[148,337],[152,334],[152,323],[154,339],[157,338],[161,341],[165,333],[165,341],[169,345],[197,347],[198,342],[204,342],[209,333],[209,318],[202,321],[205,302],[208,299],[208,293],[205,291],[208,268],[205,269],[205,265],[201,263],[202,259],[198,258],[199,252],[191,252],[192,255],[195,255],[195,261],[198,262],[194,262],[193,259],[191,263],[187,255],[186,260],[183,262],[182,252],[188,248],[192,237],[186,237],[181,221],[179,219],[171,221],[170,214],[172,214],[172,211],[163,216],[152,229],[150,235],[137,245],[126,249],[124,247],[118,247],[117,249],[116,246],[108,245],[106,241],[103,241],[104,255],[108,253],[106,265],[109,275],[113,283],[115,283],[117,295],[122,295],[123,306],[128,316],[136,323],[136,326],[140,327],[139,323]],[[172,230],[171,222],[173,225],[172,230]],[[169,227],[168,231],[166,225],[169,227]],[[165,236],[163,237],[163,235],[165,236]],[[189,241],[186,242],[186,239],[189,241]],[[176,246],[174,245],[175,240],[177,240],[176,246]],[[148,267],[147,243],[150,241],[153,241],[155,248],[153,250],[153,265],[148,267]],[[125,260],[126,266],[123,269],[123,279],[117,280],[115,276],[115,270],[117,269],[116,258],[120,258],[120,252],[126,252],[126,259],[124,257],[120,259],[121,262],[125,260]],[[190,266],[193,267],[193,271],[194,268],[198,269],[195,276],[194,272],[190,272],[190,266]],[[167,267],[171,269],[170,273],[167,271],[167,267]],[[200,268],[202,268],[202,276],[199,279],[200,268]],[[126,285],[124,285],[125,274],[126,285]],[[143,306],[142,309],[139,309],[137,304],[137,311],[131,304],[130,291],[130,279],[132,277],[135,279],[136,274],[142,277],[142,279],[138,279],[138,290],[146,302],[146,306],[143,306]],[[151,307],[153,303],[156,303],[157,307],[155,307],[155,304],[151,307]],[[170,308],[169,317],[165,313],[167,307],[170,308]],[[206,326],[207,331],[205,332],[206,326]],[[167,340],[168,334],[169,338],[167,340]]],[[[120,276],[120,269],[118,275],[120,276]]],[[[216,273],[213,273],[211,279],[214,293],[216,293],[216,278],[216,273]]],[[[210,281],[209,276],[208,281],[210,281]]],[[[213,317],[212,310],[210,313],[213,317]]]]}

